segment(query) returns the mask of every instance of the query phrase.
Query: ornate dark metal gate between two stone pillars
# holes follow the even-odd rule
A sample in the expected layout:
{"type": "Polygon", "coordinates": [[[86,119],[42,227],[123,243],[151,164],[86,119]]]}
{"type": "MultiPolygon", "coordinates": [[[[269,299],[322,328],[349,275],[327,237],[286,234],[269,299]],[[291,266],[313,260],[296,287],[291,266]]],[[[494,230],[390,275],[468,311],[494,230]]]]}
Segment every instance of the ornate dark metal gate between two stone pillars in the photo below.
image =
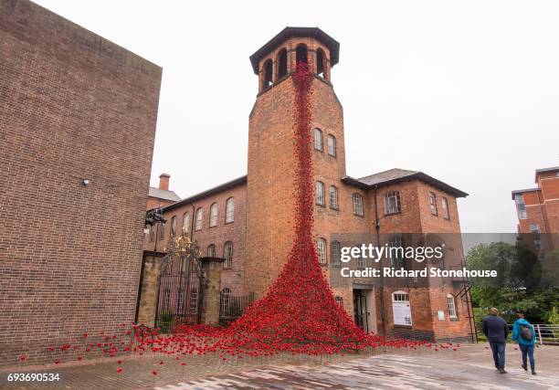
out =
{"type": "Polygon", "coordinates": [[[173,332],[176,323],[199,323],[204,272],[199,249],[185,235],[171,238],[162,258],[155,327],[173,332]]]}

